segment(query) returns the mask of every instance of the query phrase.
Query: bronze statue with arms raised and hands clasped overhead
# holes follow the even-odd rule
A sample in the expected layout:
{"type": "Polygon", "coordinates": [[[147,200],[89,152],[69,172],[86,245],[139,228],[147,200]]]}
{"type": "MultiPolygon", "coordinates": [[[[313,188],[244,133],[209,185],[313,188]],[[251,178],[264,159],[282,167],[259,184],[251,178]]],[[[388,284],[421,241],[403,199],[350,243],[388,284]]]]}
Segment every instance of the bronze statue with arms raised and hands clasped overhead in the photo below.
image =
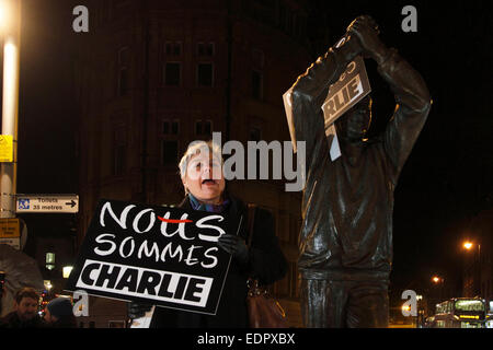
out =
{"type": "Polygon", "coordinates": [[[307,327],[387,327],[393,191],[431,109],[421,75],[359,16],[346,40],[298,78],[291,93],[296,139],[306,141],[300,232],[301,311],[307,327]],[[335,121],[341,156],[331,160],[322,105],[357,56],[374,59],[397,106],[385,131],[366,139],[371,98],[335,121]]]}

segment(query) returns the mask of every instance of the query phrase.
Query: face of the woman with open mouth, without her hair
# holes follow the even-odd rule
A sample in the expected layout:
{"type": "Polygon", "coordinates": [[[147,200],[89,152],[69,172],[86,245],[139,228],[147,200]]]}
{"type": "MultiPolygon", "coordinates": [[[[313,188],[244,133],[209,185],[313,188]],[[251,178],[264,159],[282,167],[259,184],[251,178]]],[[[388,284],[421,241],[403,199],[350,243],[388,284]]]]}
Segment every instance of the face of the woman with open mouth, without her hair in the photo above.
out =
{"type": "Polygon", "coordinates": [[[196,154],[191,158],[182,182],[183,186],[199,201],[219,203],[226,185],[221,162],[214,158],[213,153],[196,154]],[[216,176],[213,176],[213,172],[216,176]]]}

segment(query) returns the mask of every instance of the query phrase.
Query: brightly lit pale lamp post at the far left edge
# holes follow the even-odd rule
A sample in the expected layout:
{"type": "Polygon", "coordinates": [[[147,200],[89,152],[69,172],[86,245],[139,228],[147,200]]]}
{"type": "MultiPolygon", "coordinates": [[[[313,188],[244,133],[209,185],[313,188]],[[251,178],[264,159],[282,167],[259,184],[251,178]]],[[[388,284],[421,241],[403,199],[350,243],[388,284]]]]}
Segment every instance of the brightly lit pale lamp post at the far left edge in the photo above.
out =
{"type": "Polygon", "coordinates": [[[11,13],[3,40],[2,135],[13,138],[13,162],[1,163],[0,218],[15,218],[18,173],[19,71],[21,50],[21,0],[7,1],[11,13]]]}

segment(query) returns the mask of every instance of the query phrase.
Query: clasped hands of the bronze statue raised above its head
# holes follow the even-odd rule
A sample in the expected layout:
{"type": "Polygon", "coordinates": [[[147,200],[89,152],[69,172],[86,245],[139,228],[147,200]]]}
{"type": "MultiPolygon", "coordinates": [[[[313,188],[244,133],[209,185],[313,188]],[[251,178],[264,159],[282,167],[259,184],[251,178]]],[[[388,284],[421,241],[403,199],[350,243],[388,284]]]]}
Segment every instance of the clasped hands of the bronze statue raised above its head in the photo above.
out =
{"type": "Polygon", "coordinates": [[[360,15],[347,27],[348,35],[357,37],[365,57],[372,58],[377,63],[385,59],[387,47],[380,40],[378,25],[369,15],[360,15]]]}

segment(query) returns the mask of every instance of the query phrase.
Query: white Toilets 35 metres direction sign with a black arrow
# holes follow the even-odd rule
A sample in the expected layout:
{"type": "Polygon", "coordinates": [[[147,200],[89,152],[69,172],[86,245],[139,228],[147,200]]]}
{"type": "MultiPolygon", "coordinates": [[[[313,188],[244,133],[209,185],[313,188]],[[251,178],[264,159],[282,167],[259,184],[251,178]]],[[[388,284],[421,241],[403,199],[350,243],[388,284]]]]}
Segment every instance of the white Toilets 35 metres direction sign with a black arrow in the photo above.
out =
{"type": "Polygon", "coordinates": [[[18,195],[18,213],[74,213],[79,211],[78,195],[18,195]]]}

